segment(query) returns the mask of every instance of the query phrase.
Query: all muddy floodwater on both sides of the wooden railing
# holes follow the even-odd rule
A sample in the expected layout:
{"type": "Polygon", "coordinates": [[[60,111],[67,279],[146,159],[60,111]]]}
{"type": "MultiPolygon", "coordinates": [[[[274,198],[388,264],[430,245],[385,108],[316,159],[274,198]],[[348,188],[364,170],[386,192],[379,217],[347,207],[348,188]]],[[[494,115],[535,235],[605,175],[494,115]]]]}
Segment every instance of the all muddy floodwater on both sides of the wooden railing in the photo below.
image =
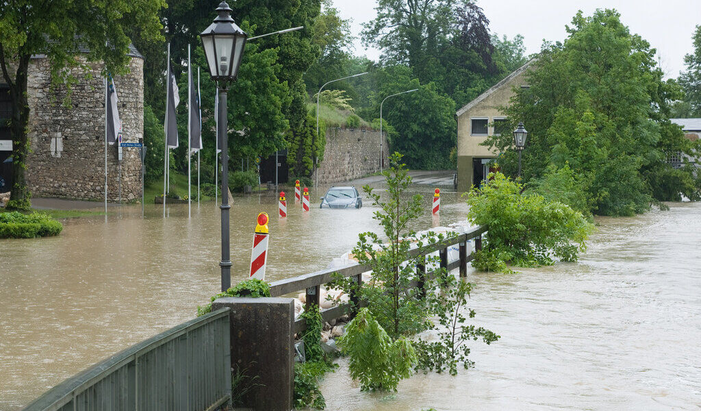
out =
{"type": "MultiPolygon", "coordinates": [[[[432,224],[426,215],[416,229],[432,224]]],[[[322,193],[312,193],[318,207],[322,193]]],[[[292,196],[288,194],[288,198],[292,196]]],[[[271,215],[267,280],[323,269],[376,230],[374,208],[319,210],[235,198],[232,282],[247,276],[254,221],[271,215]]],[[[442,195],[441,224],[467,206],[442,195]]],[[[18,410],[63,379],[193,318],[219,291],[219,208],[213,202],[121,208],[64,221],[55,238],[0,240],[0,410],[18,410]]],[[[393,396],[361,393],[347,368],[327,375],[327,410],[699,410],[701,204],[600,219],[577,264],[475,274],[475,323],[501,335],[475,344],[475,368],[415,375],[393,396]]],[[[341,363],[343,363],[341,361],[341,363]]]]}

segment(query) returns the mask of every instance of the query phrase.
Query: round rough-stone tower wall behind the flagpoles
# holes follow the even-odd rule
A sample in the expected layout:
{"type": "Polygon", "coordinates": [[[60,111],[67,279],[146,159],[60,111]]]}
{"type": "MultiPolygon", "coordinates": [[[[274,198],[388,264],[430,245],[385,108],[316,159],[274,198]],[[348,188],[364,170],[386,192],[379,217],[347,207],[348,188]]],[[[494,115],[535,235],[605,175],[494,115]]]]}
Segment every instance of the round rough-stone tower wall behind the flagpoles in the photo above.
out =
{"type": "MultiPolygon", "coordinates": [[[[83,60],[84,62],[84,60],[83,60]]],[[[62,102],[64,86],[50,86],[46,58],[29,65],[29,144],[27,183],[32,196],[101,200],[104,198],[104,77],[102,64],[88,63],[90,76],[74,69],[72,107],[62,102]]],[[[118,111],[123,142],[139,142],[144,135],[144,61],[134,57],[130,72],[116,76],[118,111]]],[[[137,148],[107,146],[107,198],[117,201],[121,166],[121,199],[141,197],[141,159],[137,148]],[[121,163],[121,164],[120,164],[121,163]]]]}

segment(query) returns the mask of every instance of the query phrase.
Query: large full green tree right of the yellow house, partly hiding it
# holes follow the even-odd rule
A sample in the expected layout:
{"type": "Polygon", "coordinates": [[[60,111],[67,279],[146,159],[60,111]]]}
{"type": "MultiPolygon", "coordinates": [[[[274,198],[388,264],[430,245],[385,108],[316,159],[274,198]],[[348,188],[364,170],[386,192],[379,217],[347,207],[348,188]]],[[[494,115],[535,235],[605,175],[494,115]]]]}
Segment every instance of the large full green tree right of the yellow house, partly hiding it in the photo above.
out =
{"type": "MultiPolygon", "coordinates": [[[[586,182],[590,210],[601,215],[644,212],[653,199],[667,199],[663,181],[696,198],[700,186],[693,179],[662,178],[671,173],[670,155],[693,151],[669,122],[669,102],[680,93],[676,82],[662,80],[655,50],[611,10],[588,18],[580,12],[567,30],[564,43],[540,53],[528,74],[530,88],[515,90],[506,109],[513,126],[523,121],[529,130],[524,181],[543,177],[550,165],[569,165],[576,180],[586,182]]],[[[512,137],[491,137],[486,144],[503,153],[503,170],[515,175],[512,137]]]]}

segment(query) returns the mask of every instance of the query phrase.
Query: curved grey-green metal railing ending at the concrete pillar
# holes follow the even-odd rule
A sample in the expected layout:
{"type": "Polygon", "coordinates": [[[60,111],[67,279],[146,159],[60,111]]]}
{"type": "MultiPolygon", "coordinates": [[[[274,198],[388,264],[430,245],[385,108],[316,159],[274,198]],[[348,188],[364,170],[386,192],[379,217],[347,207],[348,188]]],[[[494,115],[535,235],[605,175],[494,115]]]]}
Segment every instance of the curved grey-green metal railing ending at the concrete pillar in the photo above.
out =
{"type": "Polygon", "coordinates": [[[221,309],[66,379],[25,411],[215,410],[231,398],[229,341],[221,309]]]}

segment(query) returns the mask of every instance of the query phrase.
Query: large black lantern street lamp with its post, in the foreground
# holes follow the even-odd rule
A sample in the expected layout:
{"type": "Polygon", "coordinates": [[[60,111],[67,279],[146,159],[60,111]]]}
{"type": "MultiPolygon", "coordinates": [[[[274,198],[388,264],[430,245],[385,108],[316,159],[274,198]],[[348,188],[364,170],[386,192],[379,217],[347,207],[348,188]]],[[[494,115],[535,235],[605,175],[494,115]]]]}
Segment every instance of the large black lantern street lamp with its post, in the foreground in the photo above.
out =
{"type": "Polygon", "coordinates": [[[229,135],[227,134],[228,124],[226,122],[226,92],[229,83],[236,80],[238,68],[241,65],[241,58],[246,45],[246,41],[270,36],[271,34],[282,34],[294,32],[304,27],[294,27],[278,32],[263,34],[261,36],[248,37],[231,18],[231,8],[226,1],[222,1],[217,7],[219,15],[214,22],[200,33],[202,46],[207,56],[207,66],[210,68],[210,75],[217,81],[217,93],[219,93],[219,112],[217,116],[219,123],[217,135],[222,138],[222,291],[231,287],[231,251],[229,245],[229,135]]]}

